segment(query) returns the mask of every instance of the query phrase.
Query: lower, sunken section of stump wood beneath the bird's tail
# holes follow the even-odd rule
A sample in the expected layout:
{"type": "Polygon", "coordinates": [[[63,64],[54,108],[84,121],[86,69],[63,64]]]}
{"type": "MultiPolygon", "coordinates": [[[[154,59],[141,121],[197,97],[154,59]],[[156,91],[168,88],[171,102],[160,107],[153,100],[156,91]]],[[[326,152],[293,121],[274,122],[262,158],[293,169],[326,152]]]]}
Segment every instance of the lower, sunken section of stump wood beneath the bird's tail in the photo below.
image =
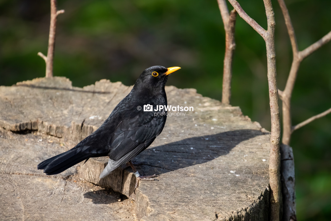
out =
{"type": "Polygon", "coordinates": [[[133,201],[84,181],[76,167],[54,176],[37,170],[65,149],[59,138],[0,128],[0,220],[134,220],[133,201]]]}

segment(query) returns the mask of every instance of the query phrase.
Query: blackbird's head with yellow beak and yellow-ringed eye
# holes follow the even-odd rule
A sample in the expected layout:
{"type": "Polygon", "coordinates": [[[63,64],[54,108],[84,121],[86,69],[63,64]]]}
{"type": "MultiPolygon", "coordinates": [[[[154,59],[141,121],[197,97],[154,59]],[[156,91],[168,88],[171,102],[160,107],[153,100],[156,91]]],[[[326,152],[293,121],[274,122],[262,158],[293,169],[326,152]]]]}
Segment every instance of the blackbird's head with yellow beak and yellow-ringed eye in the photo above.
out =
{"type": "Polygon", "coordinates": [[[168,75],[177,71],[180,67],[165,68],[163,66],[152,66],[141,73],[135,83],[135,87],[164,88],[168,75]]]}

